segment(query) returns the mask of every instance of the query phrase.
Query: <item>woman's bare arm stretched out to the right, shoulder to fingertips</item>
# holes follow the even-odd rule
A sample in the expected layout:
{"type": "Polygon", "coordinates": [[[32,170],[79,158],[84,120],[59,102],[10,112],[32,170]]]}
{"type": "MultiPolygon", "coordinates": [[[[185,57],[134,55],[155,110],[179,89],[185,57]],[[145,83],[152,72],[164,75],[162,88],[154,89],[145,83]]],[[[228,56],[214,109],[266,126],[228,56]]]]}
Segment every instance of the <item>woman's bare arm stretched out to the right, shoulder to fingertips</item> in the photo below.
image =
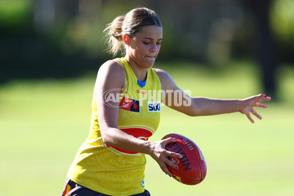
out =
{"type": "Polygon", "coordinates": [[[262,119],[262,117],[257,114],[253,107],[267,108],[267,105],[259,102],[270,100],[270,97],[262,94],[245,99],[191,98],[176,86],[172,77],[167,72],[159,69],[154,69],[154,71],[159,76],[163,92],[167,92],[165,95],[162,95],[162,102],[172,109],[189,116],[208,116],[241,112],[254,123],[250,113],[259,119],[262,119]]]}

